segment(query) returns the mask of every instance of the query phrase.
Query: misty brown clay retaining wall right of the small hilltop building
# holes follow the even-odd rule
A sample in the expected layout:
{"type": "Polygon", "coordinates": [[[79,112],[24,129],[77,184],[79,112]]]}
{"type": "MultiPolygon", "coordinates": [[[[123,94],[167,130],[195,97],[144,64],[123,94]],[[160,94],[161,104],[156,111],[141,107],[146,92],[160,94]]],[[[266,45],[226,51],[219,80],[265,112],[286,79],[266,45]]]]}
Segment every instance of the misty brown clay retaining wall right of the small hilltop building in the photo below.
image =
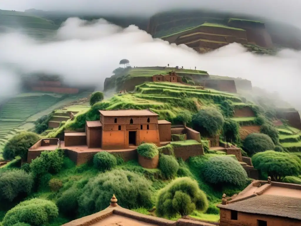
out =
{"type": "Polygon", "coordinates": [[[225,91],[229,93],[237,93],[234,80],[208,79],[203,81],[203,85],[208,88],[225,91]]]}

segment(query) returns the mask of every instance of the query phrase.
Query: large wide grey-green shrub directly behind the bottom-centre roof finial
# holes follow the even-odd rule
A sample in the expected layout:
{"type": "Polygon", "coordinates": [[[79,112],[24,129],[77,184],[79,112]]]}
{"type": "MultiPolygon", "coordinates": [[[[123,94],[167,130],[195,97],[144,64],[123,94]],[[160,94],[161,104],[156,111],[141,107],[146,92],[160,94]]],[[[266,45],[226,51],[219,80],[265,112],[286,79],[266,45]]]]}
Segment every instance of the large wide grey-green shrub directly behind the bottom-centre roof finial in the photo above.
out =
{"type": "Polygon", "coordinates": [[[108,207],[115,194],[118,204],[126,209],[153,207],[151,181],[142,174],[115,169],[91,178],[79,196],[79,212],[89,215],[108,207]],[[108,198],[109,197],[109,198],[108,198]]]}

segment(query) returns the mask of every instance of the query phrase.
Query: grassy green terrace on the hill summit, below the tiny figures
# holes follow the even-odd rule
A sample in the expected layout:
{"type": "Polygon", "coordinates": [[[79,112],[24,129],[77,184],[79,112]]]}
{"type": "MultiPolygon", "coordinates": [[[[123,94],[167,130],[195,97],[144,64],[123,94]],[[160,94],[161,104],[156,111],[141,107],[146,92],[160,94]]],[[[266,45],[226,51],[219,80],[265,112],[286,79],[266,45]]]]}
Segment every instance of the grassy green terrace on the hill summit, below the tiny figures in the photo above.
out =
{"type": "Polygon", "coordinates": [[[172,70],[181,74],[207,74],[207,71],[175,69],[172,67],[135,67],[129,72],[129,74],[131,77],[151,77],[155,74],[168,74],[168,72],[172,70]]]}

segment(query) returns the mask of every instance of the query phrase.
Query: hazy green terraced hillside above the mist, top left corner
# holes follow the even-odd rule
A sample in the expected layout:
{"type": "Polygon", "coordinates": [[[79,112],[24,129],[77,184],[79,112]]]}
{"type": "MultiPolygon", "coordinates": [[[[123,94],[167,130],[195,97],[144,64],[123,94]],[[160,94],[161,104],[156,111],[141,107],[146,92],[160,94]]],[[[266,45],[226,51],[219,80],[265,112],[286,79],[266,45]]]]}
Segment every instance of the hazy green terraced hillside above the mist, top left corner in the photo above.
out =
{"type": "Polygon", "coordinates": [[[36,37],[46,37],[58,29],[58,26],[51,20],[8,10],[0,10],[0,27],[22,29],[23,32],[36,37]]]}

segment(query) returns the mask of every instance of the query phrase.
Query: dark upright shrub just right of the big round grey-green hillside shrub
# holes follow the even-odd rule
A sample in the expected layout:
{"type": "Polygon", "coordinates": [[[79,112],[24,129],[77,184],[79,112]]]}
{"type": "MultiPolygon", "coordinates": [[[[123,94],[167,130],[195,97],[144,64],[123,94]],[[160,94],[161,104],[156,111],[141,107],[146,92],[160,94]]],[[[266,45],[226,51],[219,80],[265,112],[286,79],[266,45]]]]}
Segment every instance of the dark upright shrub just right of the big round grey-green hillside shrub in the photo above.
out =
{"type": "Polygon", "coordinates": [[[239,124],[231,119],[226,119],[223,124],[223,137],[226,142],[240,143],[239,124]]]}

